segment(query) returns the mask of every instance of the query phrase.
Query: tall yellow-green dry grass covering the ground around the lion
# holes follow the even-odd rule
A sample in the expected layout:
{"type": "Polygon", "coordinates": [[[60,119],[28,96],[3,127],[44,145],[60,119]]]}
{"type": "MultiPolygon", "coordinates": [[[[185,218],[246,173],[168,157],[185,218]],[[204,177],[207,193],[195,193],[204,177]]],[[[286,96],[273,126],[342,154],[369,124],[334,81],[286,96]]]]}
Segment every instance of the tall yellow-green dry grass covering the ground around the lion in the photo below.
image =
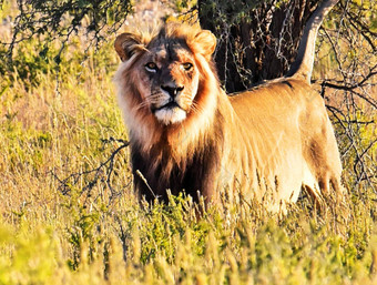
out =
{"type": "MultiPolygon", "coordinates": [[[[13,70],[0,62],[0,284],[377,283],[376,185],[350,187],[351,163],[346,207],[318,212],[305,195],[285,216],[256,202],[203,210],[183,194],[139,203],[112,40],[95,50],[72,37],[57,68],[30,39],[13,70]]],[[[376,129],[364,128],[368,144],[376,129]]]]}

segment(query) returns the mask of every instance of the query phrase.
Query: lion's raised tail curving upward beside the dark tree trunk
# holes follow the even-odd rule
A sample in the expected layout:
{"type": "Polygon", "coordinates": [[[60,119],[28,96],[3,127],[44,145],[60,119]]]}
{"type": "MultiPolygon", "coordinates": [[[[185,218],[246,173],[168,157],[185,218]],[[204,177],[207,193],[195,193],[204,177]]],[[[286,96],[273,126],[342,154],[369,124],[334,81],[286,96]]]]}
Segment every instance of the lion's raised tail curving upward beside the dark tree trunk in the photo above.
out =
{"type": "Polygon", "coordinates": [[[314,11],[305,26],[296,60],[286,77],[299,78],[310,83],[318,29],[326,14],[337,2],[338,0],[324,0],[314,11]]]}

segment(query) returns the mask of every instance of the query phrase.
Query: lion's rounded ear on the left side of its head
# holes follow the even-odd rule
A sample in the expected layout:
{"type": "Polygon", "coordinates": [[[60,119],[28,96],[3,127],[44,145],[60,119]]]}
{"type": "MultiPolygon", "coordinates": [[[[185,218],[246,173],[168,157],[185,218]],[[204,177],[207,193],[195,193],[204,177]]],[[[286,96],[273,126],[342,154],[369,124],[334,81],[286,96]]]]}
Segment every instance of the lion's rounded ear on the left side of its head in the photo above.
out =
{"type": "Polygon", "coordinates": [[[116,37],[114,48],[122,61],[129,60],[135,52],[144,50],[141,37],[133,33],[122,33],[116,37]]]}

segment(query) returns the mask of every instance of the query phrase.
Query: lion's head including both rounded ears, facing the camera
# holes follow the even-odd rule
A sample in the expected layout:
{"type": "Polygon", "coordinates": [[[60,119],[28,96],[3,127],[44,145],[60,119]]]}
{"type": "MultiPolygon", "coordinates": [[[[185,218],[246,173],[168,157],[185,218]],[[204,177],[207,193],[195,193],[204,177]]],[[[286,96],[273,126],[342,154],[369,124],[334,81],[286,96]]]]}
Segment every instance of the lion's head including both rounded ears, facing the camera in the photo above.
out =
{"type": "Polygon", "coordinates": [[[124,96],[133,96],[124,100],[134,101],[126,104],[137,109],[137,114],[143,110],[151,121],[152,115],[156,124],[182,123],[202,109],[197,94],[207,80],[203,73],[211,65],[215,47],[216,38],[210,31],[176,23],[154,35],[119,35],[115,50],[124,65],[116,78],[126,90],[124,96]],[[132,84],[128,85],[128,81],[132,84]]]}

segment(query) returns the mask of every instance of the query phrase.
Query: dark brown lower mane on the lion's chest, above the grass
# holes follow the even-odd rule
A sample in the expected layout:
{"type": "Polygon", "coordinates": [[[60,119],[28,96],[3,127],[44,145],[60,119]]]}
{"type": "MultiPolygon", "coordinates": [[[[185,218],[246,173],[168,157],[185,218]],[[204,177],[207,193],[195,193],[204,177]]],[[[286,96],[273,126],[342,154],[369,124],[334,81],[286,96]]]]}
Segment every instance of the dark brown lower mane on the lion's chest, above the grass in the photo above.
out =
{"type": "Polygon", "coordinates": [[[173,195],[184,191],[197,200],[200,192],[201,195],[211,199],[216,187],[214,173],[218,163],[218,151],[214,143],[208,143],[204,150],[180,159],[173,159],[170,150],[142,153],[134,145],[132,166],[134,185],[140,195],[145,196],[146,201],[153,201],[155,197],[167,201],[166,190],[170,190],[173,195]]]}

